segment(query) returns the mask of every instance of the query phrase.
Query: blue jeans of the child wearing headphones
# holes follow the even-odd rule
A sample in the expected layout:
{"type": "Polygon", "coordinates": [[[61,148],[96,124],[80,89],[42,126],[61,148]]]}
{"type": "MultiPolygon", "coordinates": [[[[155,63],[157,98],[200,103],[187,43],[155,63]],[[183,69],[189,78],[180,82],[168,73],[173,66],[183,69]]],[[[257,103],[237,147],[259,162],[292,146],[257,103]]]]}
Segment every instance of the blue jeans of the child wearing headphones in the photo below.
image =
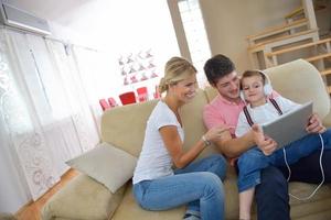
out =
{"type": "MultiPolygon", "coordinates": [[[[321,134],[324,148],[331,148],[331,130],[328,129],[321,134]]],[[[293,164],[300,158],[308,156],[321,150],[322,143],[318,134],[308,134],[302,139],[290,143],[285,146],[287,163],[293,164]]],[[[239,193],[247,190],[260,184],[260,170],[267,166],[286,166],[285,155],[282,148],[277,150],[271,155],[266,156],[258,147],[254,147],[245,152],[237,162],[239,175],[238,175],[238,190],[239,193]]]]}

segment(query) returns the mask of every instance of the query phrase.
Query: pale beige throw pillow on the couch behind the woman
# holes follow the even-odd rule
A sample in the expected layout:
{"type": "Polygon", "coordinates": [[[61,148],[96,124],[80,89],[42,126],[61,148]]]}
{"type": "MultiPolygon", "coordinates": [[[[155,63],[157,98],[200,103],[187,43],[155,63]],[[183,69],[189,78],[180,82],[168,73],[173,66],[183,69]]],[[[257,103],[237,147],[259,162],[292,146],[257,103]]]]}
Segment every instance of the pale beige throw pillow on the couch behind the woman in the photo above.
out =
{"type": "Polygon", "coordinates": [[[104,142],[66,164],[102,183],[115,194],[134,176],[137,158],[104,142]]]}

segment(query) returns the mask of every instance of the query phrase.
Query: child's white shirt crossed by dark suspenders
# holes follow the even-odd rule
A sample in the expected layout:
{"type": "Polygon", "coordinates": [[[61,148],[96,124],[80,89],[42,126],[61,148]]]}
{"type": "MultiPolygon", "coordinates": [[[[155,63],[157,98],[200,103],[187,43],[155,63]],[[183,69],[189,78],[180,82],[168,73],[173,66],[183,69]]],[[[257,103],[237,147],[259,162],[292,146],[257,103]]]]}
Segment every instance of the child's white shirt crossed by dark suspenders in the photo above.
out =
{"type": "MultiPolygon", "coordinates": [[[[278,96],[275,98],[275,101],[278,103],[279,108],[281,109],[282,113],[289,112],[298,107],[300,107],[299,103],[296,103],[289,99],[286,99],[281,96],[278,96]]],[[[277,109],[274,107],[274,105],[268,100],[267,103],[252,108],[250,105],[247,105],[247,110],[250,114],[250,118],[254,123],[256,124],[263,124],[269,121],[273,121],[279,117],[279,113],[277,109]]],[[[238,123],[236,127],[236,136],[243,136],[247,131],[250,130],[250,125],[247,122],[247,119],[245,117],[244,110],[241,112],[238,118],[238,123]]]]}

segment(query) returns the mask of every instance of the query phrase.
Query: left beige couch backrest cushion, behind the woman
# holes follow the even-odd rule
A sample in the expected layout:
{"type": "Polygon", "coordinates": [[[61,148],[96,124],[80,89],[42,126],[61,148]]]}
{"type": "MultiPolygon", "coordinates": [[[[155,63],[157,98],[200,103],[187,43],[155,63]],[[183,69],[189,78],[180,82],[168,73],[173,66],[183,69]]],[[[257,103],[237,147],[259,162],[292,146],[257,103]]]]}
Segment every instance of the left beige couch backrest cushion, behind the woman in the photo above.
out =
{"type": "MultiPolygon", "coordinates": [[[[146,123],[156,103],[157,100],[152,100],[105,111],[102,118],[102,141],[139,156],[146,123]]],[[[194,99],[180,110],[185,133],[184,148],[190,147],[205,133],[202,110],[206,103],[205,92],[199,89],[194,99]]]]}

